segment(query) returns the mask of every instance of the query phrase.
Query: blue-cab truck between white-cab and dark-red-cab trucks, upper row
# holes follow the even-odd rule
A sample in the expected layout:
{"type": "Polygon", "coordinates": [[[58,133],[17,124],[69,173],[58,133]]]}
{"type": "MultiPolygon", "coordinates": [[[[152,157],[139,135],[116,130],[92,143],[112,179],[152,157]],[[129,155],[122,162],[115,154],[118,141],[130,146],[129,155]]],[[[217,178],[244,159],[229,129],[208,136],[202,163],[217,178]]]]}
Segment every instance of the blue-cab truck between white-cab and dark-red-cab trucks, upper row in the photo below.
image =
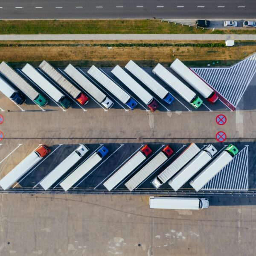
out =
{"type": "Polygon", "coordinates": [[[137,102],[126,93],[121,87],[114,83],[108,76],[102,73],[98,68],[92,66],[88,71],[95,80],[102,84],[107,90],[109,90],[117,99],[127,105],[131,110],[137,106],[137,102]]]}

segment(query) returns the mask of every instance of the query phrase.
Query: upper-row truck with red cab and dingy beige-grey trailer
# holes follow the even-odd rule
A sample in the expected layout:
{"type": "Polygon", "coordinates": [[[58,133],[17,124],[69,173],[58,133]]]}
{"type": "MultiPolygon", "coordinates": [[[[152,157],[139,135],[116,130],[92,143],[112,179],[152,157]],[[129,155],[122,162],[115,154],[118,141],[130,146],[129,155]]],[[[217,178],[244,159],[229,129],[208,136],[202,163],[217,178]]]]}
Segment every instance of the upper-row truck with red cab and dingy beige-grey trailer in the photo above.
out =
{"type": "Polygon", "coordinates": [[[76,99],[81,105],[85,105],[89,102],[89,98],[84,95],[80,90],[78,90],[73,84],[70,83],[67,79],[64,78],[57,70],[55,70],[52,65],[47,61],[42,61],[39,65],[41,70],[58,83],[64,90],[67,91],[74,99],[76,99]]]}

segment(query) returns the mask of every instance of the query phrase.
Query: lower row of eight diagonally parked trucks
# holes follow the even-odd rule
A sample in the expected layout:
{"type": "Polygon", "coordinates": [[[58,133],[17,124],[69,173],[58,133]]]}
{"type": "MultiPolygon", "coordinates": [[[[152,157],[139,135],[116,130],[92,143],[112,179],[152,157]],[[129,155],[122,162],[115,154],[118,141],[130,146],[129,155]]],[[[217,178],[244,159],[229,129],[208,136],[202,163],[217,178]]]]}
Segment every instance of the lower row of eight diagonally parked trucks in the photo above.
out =
{"type": "MultiPolygon", "coordinates": [[[[11,172],[4,176],[0,180],[0,186],[4,190],[9,189],[49,152],[50,150],[47,145],[41,145],[12,169],[11,172]]],[[[45,190],[49,189],[69,170],[75,168],[75,170],[60,183],[60,186],[67,191],[108,154],[108,149],[102,146],[98,151],[93,152],[93,154],[84,160],[84,156],[87,152],[89,152],[87,145],[79,145],[75,151],[41,180],[39,183],[41,187],[45,190]],[[76,164],[78,164],[78,166],[76,166],[76,164]]],[[[163,183],[168,182],[169,186],[174,191],[177,191],[190,180],[189,184],[195,191],[199,191],[212,177],[230,163],[237,153],[238,149],[236,146],[230,144],[216,157],[217,150],[213,145],[207,145],[200,150],[195,143],[191,143],[169,166],[157,175],[157,177],[154,177],[151,184],[158,189],[163,183]],[[212,160],[212,158],[214,158],[214,160],[212,160]],[[201,169],[202,171],[199,172],[201,169]],[[199,174],[196,175],[198,172],[199,174]]],[[[151,154],[152,150],[148,145],[141,147],[139,151],[134,153],[120,168],[118,167],[117,171],[115,170],[114,174],[103,183],[105,188],[108,189],[108,191],[115,189],[128,175],[131,176],[133,172],[139,170],[125,183],[125,186],[130,191],[133,191],[140,186],[144,180],[160,169],[169,157],[175,155],[172,148],[167,145],[140,169],[151,154]]]]}

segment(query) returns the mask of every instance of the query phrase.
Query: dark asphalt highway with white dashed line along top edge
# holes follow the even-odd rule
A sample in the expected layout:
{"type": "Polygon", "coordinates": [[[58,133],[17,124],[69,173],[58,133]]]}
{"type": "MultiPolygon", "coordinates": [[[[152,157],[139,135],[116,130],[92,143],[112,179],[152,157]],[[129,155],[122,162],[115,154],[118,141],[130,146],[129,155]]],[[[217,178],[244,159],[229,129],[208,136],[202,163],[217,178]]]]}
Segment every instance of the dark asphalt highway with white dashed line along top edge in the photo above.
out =
{"type": "Polygon", "coordinates": [[[0,19],[113,19],[256,17],[254,0],[9,0],[0,3],[0,19]]]}

